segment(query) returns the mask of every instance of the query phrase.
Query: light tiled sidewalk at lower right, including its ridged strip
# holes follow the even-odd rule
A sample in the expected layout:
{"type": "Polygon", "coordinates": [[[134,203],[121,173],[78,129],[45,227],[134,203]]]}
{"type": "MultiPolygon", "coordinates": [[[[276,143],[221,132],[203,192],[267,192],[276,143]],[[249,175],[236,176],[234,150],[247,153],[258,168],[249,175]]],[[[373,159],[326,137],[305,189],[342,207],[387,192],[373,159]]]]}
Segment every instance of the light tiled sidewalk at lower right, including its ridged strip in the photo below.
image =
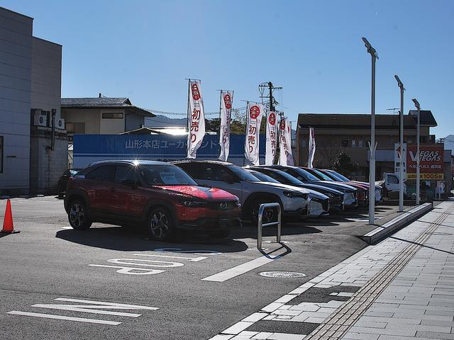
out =
{"type": "Polygon", "coordinates": [[[454,339],[453,317],[448,201],[212,339],[454,339]]]}

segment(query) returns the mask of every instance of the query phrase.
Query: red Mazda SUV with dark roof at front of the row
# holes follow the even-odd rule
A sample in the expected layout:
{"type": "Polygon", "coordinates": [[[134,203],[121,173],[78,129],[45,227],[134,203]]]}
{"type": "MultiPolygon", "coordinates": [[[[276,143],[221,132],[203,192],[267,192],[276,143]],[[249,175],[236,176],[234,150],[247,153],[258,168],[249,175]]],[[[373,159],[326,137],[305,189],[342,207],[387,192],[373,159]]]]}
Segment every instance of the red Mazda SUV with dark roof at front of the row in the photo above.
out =
{"type": "Polygon", "coordinates": [[[74,229],[92,222],[146,225],[150,237],[171,239],[177,229],[226,237],[240,227],[238,198],[206,188],[178,166],[152,161],[101,161],[69,179],[65,210],[74,229]]]}

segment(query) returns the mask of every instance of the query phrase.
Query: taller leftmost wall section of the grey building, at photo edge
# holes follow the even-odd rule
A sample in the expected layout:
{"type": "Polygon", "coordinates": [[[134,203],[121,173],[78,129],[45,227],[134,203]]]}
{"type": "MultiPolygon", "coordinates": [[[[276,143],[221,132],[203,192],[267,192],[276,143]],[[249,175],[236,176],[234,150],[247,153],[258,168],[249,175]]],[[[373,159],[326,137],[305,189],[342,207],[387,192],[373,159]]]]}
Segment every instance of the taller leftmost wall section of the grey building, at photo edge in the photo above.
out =
{"type": "Polygon", "coordinates": [[[0,7],[0,193],[28,193],[33,18],[0,7]]]}

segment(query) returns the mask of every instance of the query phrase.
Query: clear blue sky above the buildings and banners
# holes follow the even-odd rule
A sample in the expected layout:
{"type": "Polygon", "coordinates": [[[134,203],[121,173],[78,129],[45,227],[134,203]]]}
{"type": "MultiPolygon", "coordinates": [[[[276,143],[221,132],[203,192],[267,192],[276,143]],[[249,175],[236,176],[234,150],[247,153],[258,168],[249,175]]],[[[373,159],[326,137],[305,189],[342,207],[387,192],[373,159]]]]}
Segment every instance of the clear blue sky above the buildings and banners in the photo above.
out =
{"type": "MultiPolygon", "coordinates": [[[[282,86],[297,113],[370,113],[375,47],[377,113],[433,112],[438,137],[454,134],[454,1],[23,1],[0,6],[35,18],[34,35],[63,45],[62,96],[127,96],[143,108],[186,112],[187,81],[202,80],[205,110],[217,89],[259,101],[258,84],[282,86]]],[[[280,98],[280,97],[279,97],[280,98]]]]}

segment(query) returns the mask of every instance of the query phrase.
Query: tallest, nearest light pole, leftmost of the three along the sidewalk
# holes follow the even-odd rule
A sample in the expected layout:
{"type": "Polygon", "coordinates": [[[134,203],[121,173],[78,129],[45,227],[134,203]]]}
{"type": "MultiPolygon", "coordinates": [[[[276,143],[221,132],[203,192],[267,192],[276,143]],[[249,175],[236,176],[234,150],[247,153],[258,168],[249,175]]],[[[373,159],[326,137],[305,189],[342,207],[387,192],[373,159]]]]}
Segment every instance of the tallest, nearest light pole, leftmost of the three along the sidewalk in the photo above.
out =
{"type": "Polygon", "coordinates": [[[372,56],[372,93],[370,103],[370,162],[369,162],[369,224],[375,224],[375,61],[377,51],[366,38],[362,38],[367,52],[372,56]]]}

